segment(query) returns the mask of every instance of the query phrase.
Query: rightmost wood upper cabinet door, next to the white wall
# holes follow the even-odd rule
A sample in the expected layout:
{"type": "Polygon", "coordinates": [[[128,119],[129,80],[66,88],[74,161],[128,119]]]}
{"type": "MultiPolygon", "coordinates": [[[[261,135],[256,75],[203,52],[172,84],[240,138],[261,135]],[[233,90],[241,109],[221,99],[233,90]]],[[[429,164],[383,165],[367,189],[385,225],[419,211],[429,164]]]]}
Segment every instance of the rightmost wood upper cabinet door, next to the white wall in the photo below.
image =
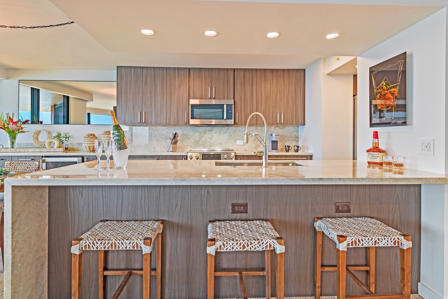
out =
{"type": "Polygon", "coordinates": [[[280,73],[280,124],[305,125],[305,70],[284,69],[280,73]]]}

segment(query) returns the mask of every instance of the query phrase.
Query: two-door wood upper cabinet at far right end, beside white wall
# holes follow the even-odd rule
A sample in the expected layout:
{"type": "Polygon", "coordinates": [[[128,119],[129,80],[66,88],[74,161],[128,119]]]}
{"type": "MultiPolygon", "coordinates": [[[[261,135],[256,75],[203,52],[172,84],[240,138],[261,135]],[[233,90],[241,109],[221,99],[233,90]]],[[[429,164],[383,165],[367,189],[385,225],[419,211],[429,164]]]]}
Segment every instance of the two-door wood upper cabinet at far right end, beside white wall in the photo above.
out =
{"type": "Polygon", "coordinates": [[[305,70],[258,69],[257,111],[268,125],[305,125],[305,70]]]}

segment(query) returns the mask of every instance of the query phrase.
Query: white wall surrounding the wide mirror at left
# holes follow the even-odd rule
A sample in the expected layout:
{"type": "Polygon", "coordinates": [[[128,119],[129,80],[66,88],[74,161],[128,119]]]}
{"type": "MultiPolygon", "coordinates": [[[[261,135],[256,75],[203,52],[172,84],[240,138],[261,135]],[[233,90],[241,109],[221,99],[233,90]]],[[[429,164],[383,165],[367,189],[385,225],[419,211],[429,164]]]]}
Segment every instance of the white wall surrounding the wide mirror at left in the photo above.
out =
{"type": "MultiPolygon", "coordinates": [[[[5,80],[0,80],[0,112],[14,113],[18,116],[18,80],[73,80],[73,81],[116,81],[116,71],[101,70],[7,70],[5,80]]],[[[29,133],[19,134],[17,143],[32,142],[32,132],[51,130],[53,133],[68,133],[70,142],[80,143],[87,133],[100,136],[108,125],[28,125],[29,133]]],[[[6,134],[0,132],[0,144],[7,147],[6,134]]]]}

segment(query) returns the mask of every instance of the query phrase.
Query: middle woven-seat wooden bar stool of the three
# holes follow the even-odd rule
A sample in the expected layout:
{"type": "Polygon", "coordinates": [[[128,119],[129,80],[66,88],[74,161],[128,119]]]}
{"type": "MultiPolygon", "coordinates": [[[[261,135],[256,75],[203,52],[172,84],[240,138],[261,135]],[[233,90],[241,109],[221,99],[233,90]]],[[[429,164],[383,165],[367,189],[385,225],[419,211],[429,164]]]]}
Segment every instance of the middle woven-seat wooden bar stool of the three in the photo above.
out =
{"type": "Polygon", "coordinates": [[[210,221],[207,243],[208,275],[207,298],[214,298],[215,276],[238,276],[241,293],[247,299],[243,276],[264,275],[266,299],[271,298],[271,251],[277,253],[277,299],[284,298],[284,252],[285,243],[267,220],[256,221],[210,221]],[[217,251],[264,251],[265,269],[262,271],[216,271],[217,251]]]}

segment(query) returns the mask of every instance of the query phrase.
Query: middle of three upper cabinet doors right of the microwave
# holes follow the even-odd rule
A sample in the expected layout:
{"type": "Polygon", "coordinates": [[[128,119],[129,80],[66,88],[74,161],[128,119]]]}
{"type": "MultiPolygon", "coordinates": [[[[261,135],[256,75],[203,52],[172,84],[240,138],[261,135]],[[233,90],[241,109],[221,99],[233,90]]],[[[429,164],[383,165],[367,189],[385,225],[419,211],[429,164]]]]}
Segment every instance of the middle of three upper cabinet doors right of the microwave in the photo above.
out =
{"type": "MultiPolygon", "coordinates": [[[[257,70],[257,112],[264,116],[267,125],[280,124],[280,72],[278,69],[257,70]]],[[[263,125],[263,120],[257,117],[256,124],[263,125]]]]}

